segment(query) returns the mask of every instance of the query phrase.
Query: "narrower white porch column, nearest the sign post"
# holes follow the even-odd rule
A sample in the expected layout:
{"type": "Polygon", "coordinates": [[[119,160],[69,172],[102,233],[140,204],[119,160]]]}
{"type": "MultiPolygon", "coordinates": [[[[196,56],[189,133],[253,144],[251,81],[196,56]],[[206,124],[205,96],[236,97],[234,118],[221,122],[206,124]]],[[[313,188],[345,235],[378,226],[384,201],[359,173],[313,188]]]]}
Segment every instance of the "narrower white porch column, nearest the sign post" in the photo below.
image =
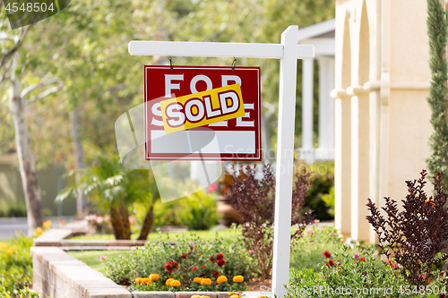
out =
{"type": "Polygon", "coordinates": [[[302,158],[314,161],[313,150],[313,83],[314,59],[302,60],[302,158]]]}

